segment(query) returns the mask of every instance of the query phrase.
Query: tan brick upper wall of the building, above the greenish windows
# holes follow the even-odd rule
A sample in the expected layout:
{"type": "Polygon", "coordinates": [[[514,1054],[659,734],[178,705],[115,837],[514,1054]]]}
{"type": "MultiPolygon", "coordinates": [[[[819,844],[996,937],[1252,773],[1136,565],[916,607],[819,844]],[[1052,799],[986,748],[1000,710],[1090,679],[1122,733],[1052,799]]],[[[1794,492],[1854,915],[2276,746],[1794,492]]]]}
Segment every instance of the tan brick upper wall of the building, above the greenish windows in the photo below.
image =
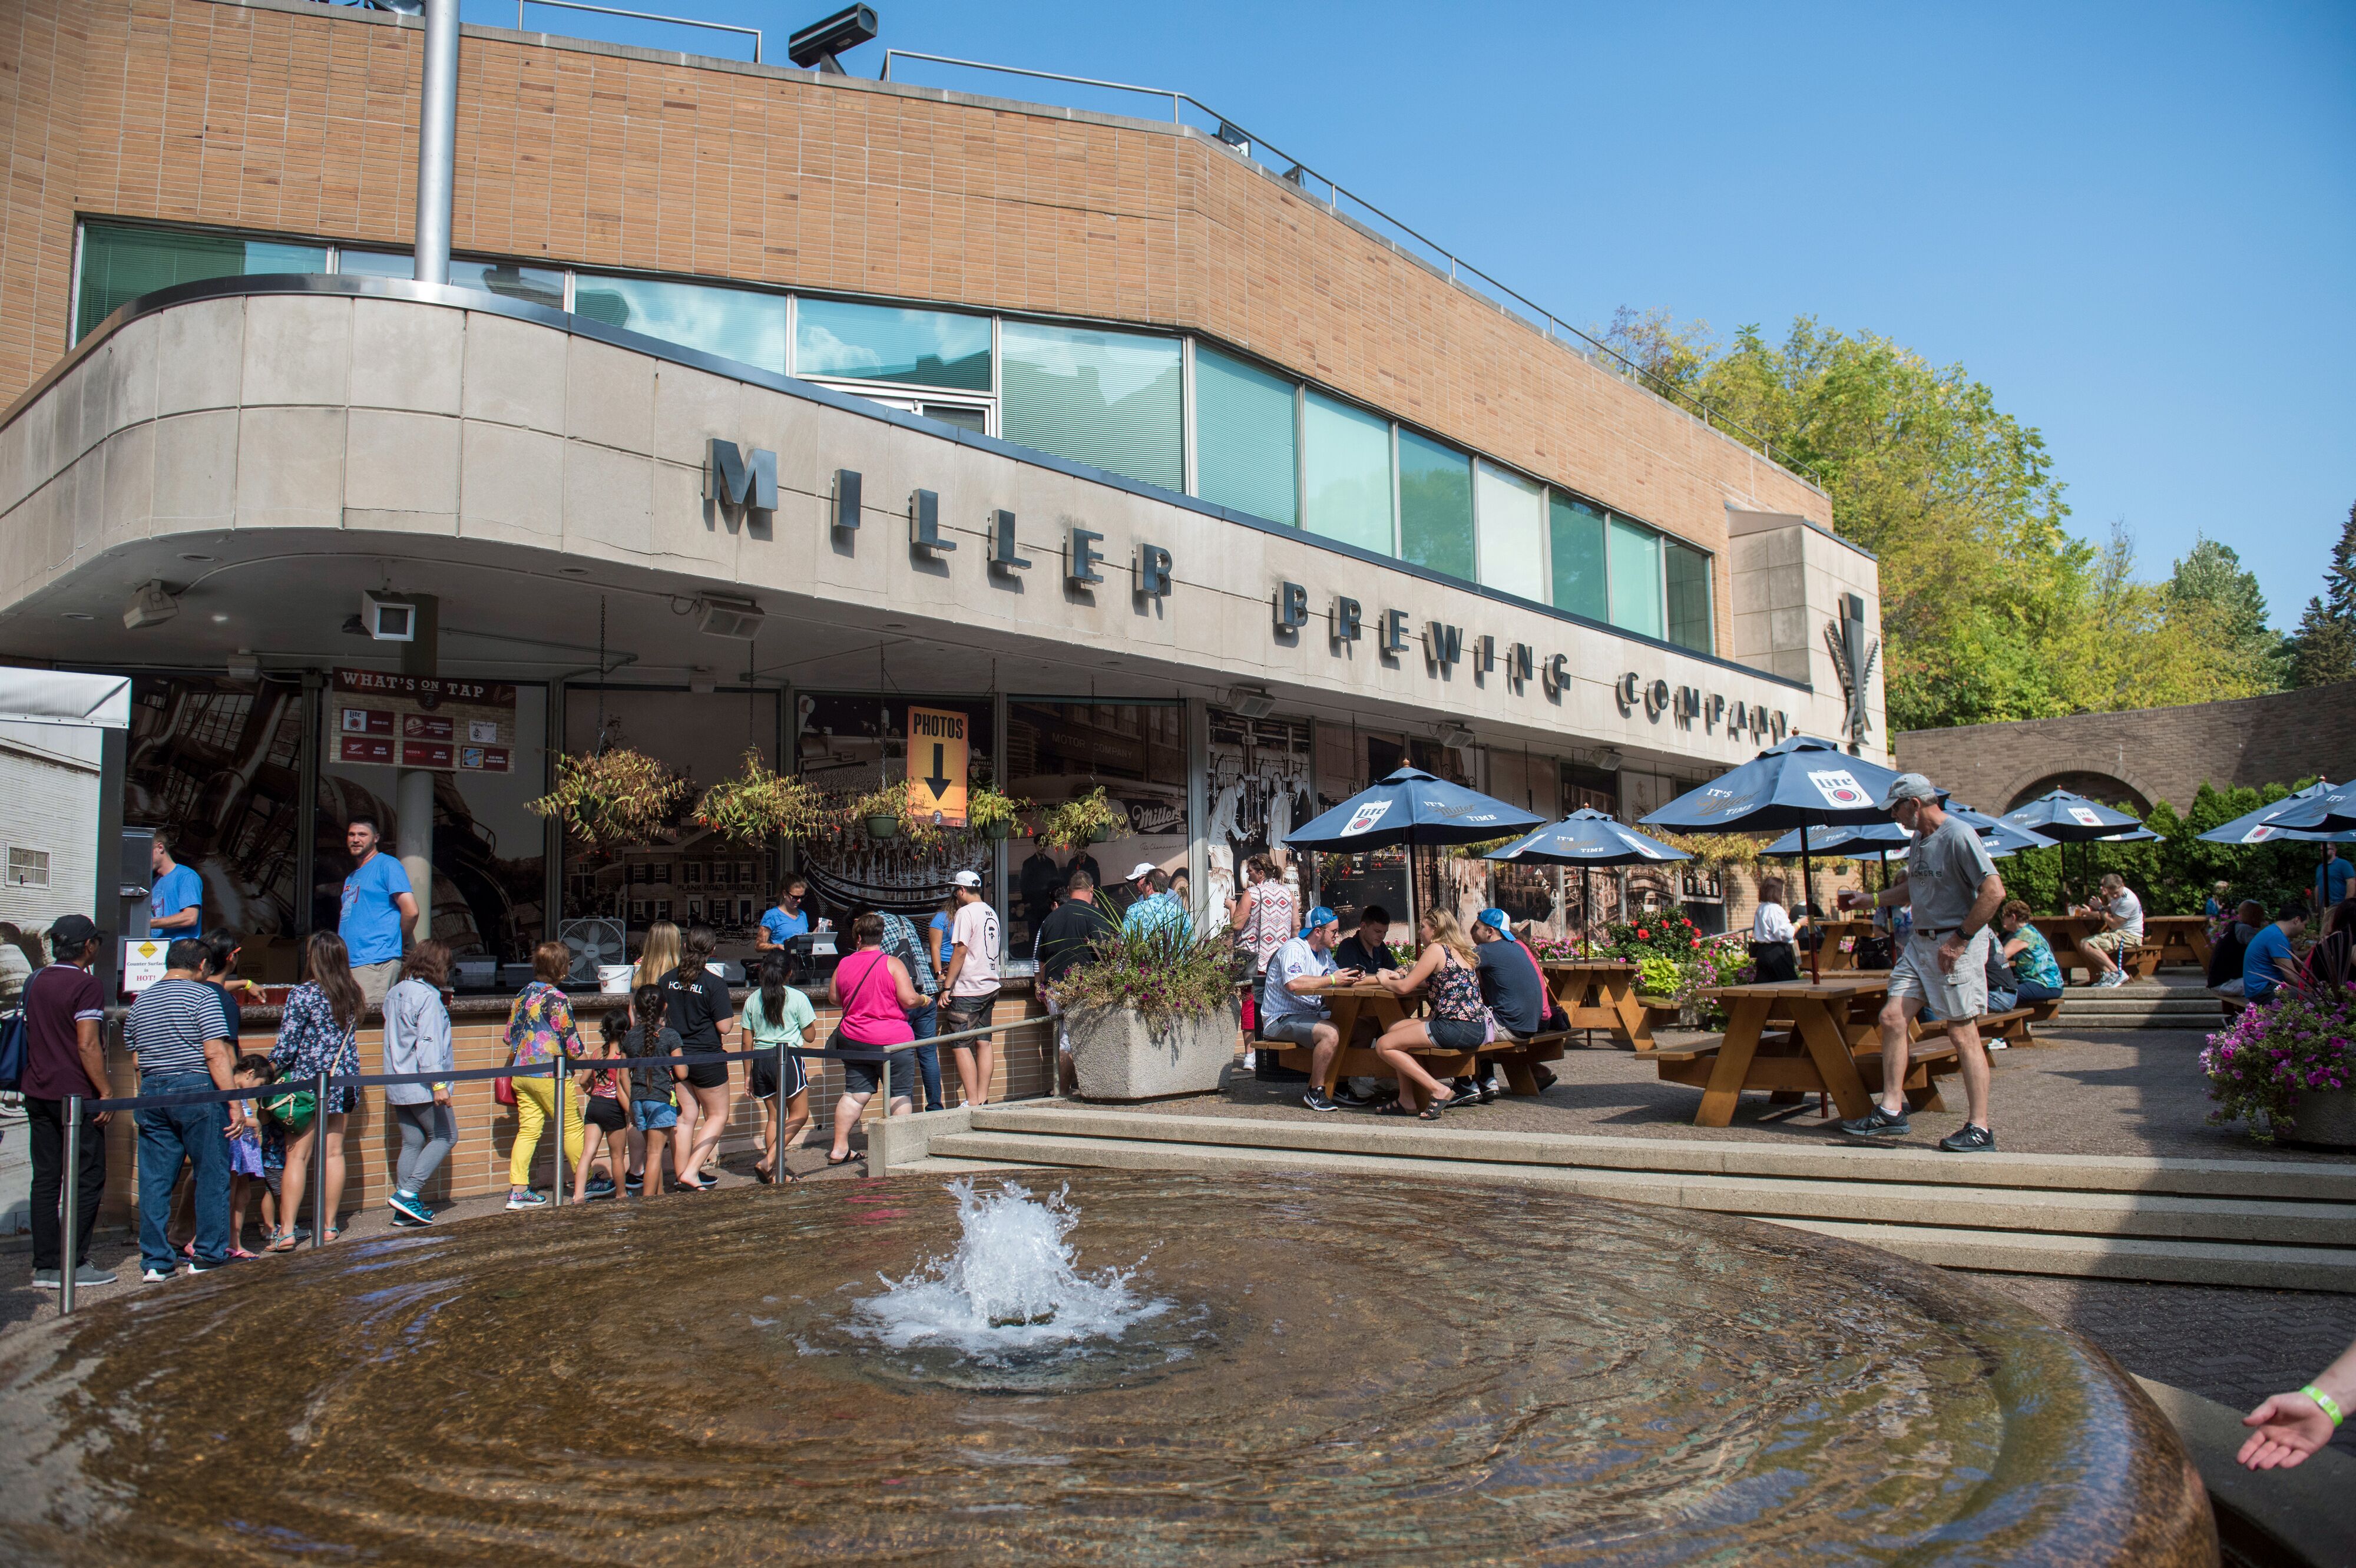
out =
{"type": "MultiPolygon", "coordinates": [[[[419,45],[278,0],[0,9],[0,400],[66,346],[75,212],[405,245],[419,45]]],[[[1831,523],[1793,476],[1202,137],[476,28],[455,242],[1202,330],[1720,553],[1727,501],[1831,523]]]]}

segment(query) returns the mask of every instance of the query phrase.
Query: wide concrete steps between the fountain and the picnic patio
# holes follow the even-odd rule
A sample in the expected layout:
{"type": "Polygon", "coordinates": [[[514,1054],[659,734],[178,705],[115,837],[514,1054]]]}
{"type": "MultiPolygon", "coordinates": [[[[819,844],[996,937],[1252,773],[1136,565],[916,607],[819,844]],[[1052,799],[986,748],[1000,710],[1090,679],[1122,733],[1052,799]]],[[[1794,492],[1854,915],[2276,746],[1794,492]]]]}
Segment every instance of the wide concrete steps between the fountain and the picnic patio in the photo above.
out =
{"type": "Polygon", "coordinates": [[[1515,1182],[1798,1224],[1951,1267],[2356,1293],[2356,1168],[2328,1163],[1955,1158],[1053,1104],[985,1107],[931,1132],[924,1154],[1515,1182]]]}

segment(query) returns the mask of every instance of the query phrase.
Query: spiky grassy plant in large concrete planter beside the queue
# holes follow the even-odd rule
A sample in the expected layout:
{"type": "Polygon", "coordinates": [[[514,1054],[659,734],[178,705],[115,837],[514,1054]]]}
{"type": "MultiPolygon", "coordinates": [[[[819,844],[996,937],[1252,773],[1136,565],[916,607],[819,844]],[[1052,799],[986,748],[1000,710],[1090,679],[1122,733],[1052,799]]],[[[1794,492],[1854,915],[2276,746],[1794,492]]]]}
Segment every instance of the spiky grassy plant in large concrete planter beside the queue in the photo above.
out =
{"type": "Polygon", "coordinates": [[[1055,982],[1084,1099],[1209,1095],[1235,1059],[1232,954],[1192,921],[1107,930],[1055,982]]]}

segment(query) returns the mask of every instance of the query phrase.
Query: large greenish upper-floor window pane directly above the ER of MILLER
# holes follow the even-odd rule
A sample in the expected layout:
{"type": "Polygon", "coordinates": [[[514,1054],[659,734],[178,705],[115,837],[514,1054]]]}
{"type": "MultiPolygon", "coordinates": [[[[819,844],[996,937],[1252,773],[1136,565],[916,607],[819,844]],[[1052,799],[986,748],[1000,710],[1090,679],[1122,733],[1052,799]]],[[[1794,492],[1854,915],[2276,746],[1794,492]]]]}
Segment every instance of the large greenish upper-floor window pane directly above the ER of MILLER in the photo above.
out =
{"type": "Polygon", "coordinates": [[[1008,320],[999,433],[1107,473],[1185,490],[1178,339],[1008,320]]]}

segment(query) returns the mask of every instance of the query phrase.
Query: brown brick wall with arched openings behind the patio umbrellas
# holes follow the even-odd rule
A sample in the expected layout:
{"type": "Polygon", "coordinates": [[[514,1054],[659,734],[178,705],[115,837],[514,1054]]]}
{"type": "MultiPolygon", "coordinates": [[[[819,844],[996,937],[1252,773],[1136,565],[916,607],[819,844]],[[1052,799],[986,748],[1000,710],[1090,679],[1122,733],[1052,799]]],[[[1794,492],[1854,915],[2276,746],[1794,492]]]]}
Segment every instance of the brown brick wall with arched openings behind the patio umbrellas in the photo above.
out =
{"type": "Polygon", "coordinates": [[[1908,730],[1897,737],[1897,758],[1986,812],[2010,810],[2021,791],[2069,772],[2118,779],[2182,812],[2201,784],[2356,779],[2356,680],[2182,709],[1908,730]]]}

